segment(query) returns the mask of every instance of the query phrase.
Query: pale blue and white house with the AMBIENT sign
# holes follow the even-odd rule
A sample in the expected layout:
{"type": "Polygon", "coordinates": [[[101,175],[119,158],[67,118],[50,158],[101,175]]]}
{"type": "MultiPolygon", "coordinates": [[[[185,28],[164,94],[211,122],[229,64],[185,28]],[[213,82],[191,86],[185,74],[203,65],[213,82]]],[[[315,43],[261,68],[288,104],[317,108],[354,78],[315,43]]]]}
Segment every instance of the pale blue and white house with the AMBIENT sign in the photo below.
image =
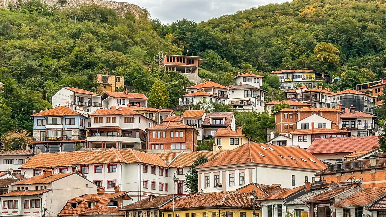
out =
{"type": "Polygon", "coordinates": [[[85,144],[88,118],[78,111],[60,106],[32,114],[34,132],[31,142],[35,153],[75,151],[85,144]]]}

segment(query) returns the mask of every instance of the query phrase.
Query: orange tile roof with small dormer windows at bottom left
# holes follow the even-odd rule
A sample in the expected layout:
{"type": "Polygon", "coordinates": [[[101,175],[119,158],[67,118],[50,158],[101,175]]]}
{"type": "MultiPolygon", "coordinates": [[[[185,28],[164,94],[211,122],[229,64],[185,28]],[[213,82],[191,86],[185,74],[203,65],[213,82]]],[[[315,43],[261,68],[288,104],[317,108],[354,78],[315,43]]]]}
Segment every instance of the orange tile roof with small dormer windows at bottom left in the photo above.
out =
{"type": "Polygon", "coordinates": [[[128,192],[86,194],[67,201],[67,204],[61,210],[58,216],[75,215],[125,215],[125,212],[119,211],[117,207],[108,207],[110,201],[114,198],[127,195],[128,192]],[[95,201],[93,208],[88,208],[88,202],[95,201]],[[71,208],[71,203],[77,202],[76,208],[71,208]]]}

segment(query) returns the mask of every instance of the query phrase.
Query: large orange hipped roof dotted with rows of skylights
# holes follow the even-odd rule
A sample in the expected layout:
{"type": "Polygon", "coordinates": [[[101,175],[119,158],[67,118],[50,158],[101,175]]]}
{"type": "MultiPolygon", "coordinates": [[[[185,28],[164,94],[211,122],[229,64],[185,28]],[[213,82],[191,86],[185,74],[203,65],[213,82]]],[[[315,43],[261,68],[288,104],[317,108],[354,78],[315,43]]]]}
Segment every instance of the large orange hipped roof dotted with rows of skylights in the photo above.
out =
{"type": "Polygon", "coordinates": [[[197,168],[226,166],[242,163],[259,163],[310,170],[323,170],[327,166],[311,153],[299,147],[267,145],[257,142],[247,142],[229,152],[203,163],[197,168]],[[263,148],[264,147],[264,148],[263,148]],[[271,147],[273,150],[271,150],[271,147]],[[261,156],[260,153],[264,156],[261,156]],[[285,159],[281,158],[283,156],[285,159]],[[291,157],[293,159],[291,159],[291,157]],[[304,159],[305,161],[303,161],[304,159]],[[311,160],[312,159],[312,160],[311,160]],[[315,163],[313,163],[313,161],[315,163]]]}

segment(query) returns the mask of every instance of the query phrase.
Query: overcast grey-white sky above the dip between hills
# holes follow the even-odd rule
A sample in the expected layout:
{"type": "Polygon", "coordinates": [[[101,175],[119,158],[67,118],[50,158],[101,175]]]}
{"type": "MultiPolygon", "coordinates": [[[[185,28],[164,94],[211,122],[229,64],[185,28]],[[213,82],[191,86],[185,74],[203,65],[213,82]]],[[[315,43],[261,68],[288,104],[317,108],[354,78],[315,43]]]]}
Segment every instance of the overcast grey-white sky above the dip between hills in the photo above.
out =
{"type": "Polygon", "coordinates": [[[149,10],[152,19],[158,18],[164,24],[184,18],[196,22],[207,21],[224,14],[234,14],[269,3],[283,3],[286,0],[120,0],[149,10]]]}

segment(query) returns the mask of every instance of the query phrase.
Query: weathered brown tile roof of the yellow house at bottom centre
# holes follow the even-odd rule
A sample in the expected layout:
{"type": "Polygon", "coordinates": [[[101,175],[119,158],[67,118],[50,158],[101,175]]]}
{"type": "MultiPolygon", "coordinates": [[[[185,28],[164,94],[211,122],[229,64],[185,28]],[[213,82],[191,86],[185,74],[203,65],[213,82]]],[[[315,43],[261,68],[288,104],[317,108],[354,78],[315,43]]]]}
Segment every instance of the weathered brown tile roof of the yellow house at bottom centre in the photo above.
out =
{"type": "MultiPolygon", "coordinates": [[[[249,193],[244,192],[216,192],[194,194],[190,197],[177,198],[174,202],[174,210],[184,210],[200,207],[238,207],[252,209],[252,199],[249,193]]],[[[260,203],[258,204],[258,209],[260,203]]],[[[162,206],[160,210],[173,209],[173,202],[162,206]]]]}

